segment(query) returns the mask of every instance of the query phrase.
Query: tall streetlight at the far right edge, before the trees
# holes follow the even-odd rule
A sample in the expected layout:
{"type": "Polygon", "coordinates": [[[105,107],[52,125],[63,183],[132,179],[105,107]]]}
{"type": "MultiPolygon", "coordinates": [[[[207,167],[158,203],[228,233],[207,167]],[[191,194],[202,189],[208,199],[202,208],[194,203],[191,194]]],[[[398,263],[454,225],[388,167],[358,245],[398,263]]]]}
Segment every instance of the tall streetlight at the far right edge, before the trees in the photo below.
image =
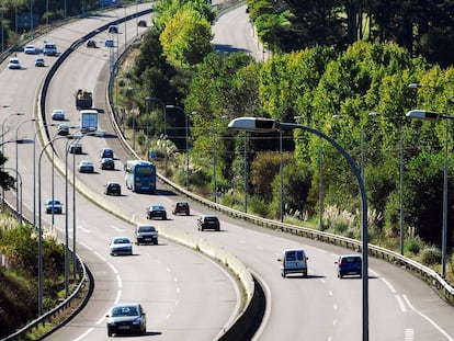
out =
{"type": "Polygon", "coordinates": [[[438,112],[430,112],[424,110],[411,110],[406,115],[413,120],[424,120],[431,122],[439,122],[444,120],[444,166],[443,166],[443,223],[442,223],[442,273],[441,276],[446,276],[446,241],[447,241],[447,121],[454,120],[454,116],[450,114],[443,114],[438,112]]]}

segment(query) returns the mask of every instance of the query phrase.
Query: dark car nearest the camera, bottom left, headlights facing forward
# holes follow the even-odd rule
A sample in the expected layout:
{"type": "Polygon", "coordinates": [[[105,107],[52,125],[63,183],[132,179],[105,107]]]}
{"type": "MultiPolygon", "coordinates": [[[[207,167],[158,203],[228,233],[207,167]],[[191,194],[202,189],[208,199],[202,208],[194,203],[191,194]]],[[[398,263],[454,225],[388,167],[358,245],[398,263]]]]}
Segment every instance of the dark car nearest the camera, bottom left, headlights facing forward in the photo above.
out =
{"type": "Polygon", "coordinates": [[[109,337],[120,333],[145,334],[147,331],[144,308],[137,303],[115,305],[105,317],[109,337]]]}

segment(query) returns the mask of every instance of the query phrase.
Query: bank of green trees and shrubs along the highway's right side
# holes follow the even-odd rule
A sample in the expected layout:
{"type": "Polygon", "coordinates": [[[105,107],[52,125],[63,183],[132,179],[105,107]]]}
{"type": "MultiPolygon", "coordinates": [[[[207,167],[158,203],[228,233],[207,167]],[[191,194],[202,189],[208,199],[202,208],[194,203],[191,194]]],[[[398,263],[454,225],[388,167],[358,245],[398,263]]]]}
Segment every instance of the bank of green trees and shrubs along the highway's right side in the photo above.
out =
{"type": "MultiPolygon", "coordinates": [[[[393,32],[383,22],[372,22],[370,18],[374,15],[372,12],[366,15],[365,9],[362,13],[368,18],[363,19],[370,25],[367,32],[340,32],[342,25],[339,25],[333,30],[338,35],[329,35],[328,44],[309,42],[304,34],[296,39],[299,31],[295,22],[303,21],[295,15],[304,11],[292,12],[290,4],[284,10],[286,3],[248,1],[256,23],[260,18],[264,21],[266,13],[292,19],[288,23],[270,19],[268,29],[258,24],[259,36],[272,45],[273,52],[269,60],[258,62],[247,54],[224,54],[215,47],[206,49],[202,59],[200,55],[184,57],[191,56],[191,48],[177,38],[172,44],[166,42],[167,24],[175,25],[172,32],[184,32],[193,43],[198,39],[200,44],[193,46],[201,46],[206,42],[206,31],[201,33],[191,21],[172,19],[186,11],[198,11],[197,15],[204,18],[201,22],[212,23],[212,13],[201,1],[158,1],[156,25],[144,37],[134,66],[128,62],[129,67],[120,75],[117,103],[125,112],[127,127],[135,127],[137,148],[144,158],[154,151],[162,173],[167,148],[168,175],[184,186],[188,117],[192,191],[212,200],[216,195],[217,202],[240,211],[280,219],[282,185],[284,220],[314,228],[320,227],[322,193],[321,228],[361,239],[359,186],[350,167],[333,147],[315,135],[283,132],[281,182],[277,133],[246,135],[227,129],[228,122],[239,116],[313,126],[334,138],[363,170],[370,240],[395,251],[399,250],[400,240],[402,162],[405,254],[440,272],[444,123],[411,121],[406,113],[412,109],[449,113],[454,91],[453,68],[442,67],[443,60],[433,60],[433,55],[428,58],[420,55],[429,46],[416,43],[422,38],[421,31],[415,33],[413,47],[406,48],[407,43],[396,44],[400,36],[397,31],[393,32]],[[266,10],[262,8],[264,4],[266,10]],[[264,34],[273,30],[274,33],[264,34]],[[285,44],[288,42],[299,45],[288,47],[285,44]],[[179,53],[182,50],[184,54],[179,53]],[[410,83],[423,87],[411,89],[410,83]],[[166,104],[173,107],[166,109],[166,104]]],[[[332,18],[342,16],[334,12],[332,18]]],[[[428,38],[424,42],[429,44],[428,38]]],[[[193,50],[196,52],[200,49],[193,50]]],[[[451,136],[451,124],[447,129],[451,136]]],[[[451,152],[449,162],[451,172],[451,152]]],[[[449,191],[449,202],[453,200],[454,191],[449,191]]],[[[447,226],[452,226],[453,215],[449,209],[447,226]]],[[[452,247],[453,230],[449,228],[451,281],[452,247]]]]}

